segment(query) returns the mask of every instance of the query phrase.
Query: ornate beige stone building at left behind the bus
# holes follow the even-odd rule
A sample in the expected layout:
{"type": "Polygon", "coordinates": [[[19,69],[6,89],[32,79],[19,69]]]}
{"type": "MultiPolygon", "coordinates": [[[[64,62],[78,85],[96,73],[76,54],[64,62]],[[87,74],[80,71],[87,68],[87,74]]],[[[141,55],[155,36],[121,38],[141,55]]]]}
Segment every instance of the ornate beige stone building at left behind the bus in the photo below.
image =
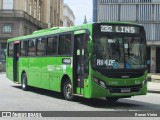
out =
{"type": "Polygon", "coordinates": [[[0,60],[7,39],[63,26],[63,0],[0,0],[0,60]]]}

